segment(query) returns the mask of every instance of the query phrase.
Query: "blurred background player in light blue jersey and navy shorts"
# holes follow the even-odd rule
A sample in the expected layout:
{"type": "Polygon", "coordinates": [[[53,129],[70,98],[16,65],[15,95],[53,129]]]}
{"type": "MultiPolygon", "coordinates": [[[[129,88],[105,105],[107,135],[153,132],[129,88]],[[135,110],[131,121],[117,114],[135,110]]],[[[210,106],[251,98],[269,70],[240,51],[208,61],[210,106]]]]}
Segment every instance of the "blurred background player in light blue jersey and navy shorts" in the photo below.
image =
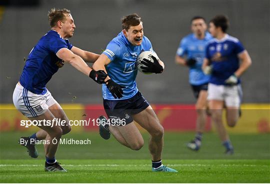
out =
{"type": "Polygon", "coordinates": [[[207,86],[209,75],[205,75],[201,66],[205,55],[205,46],[212,39],[206,31],[205,19],[201,16],[194,16],[191,19],[191,31],[193,33],[183,37],[175,55],[175,62],[189,67],[189,83],[193,90],[196,102],[196,134],[195,138],[186,146],[198,151],[201,146],[202,133],[206,122],[207,108],[207,86]]]}

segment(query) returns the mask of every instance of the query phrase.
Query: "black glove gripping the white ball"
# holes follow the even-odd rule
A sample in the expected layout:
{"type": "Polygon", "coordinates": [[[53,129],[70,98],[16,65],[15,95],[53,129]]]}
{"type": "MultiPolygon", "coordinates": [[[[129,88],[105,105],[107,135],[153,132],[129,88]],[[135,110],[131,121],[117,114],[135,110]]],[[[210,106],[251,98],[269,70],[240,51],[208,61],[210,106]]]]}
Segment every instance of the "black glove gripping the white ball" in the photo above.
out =
{"type": "Polygon", "coordinates": [[[142,72],[145,73],[162,73],[163,67],[159,64],[157,59],[152,55],[153,63],[148,59],[142,59],[141,64],[144,64],[146,67],[141,66],[143,69],[142,72]]]}

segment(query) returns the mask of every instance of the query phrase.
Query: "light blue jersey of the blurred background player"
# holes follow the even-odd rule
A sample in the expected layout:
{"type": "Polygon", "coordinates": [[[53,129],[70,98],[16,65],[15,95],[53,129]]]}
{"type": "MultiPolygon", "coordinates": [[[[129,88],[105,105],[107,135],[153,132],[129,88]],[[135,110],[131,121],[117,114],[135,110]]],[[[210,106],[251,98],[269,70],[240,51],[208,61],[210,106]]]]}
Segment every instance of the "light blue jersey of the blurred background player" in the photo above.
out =
{"type": "Polygon", "coordinates": [[[205,47],[212,36],[206,32],[204,39],[197,39],[193,33],[182,38],[176,54],[180,57],[186,56],[187,59],[193,58],[197,62],[189,68],[189,83],[191,85],[201,85],[209,81],[209,75],[205,75],[201,66],[205,56],[205,47]]]}

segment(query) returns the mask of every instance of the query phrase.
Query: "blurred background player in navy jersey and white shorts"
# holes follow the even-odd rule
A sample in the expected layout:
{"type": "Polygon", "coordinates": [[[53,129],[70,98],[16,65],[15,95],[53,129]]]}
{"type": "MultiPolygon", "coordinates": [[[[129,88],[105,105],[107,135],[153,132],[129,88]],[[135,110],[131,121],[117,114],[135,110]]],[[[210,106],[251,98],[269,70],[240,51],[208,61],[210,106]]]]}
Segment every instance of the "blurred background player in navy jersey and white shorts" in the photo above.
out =
{"type": "Polygon", "coordinates": [[[202,68],[204,73],[211,74],[207,98],[212,122],[216,125],[225,153],[233,154],[229,136],[222,124],[222,109],[226,108],[227,125],[234,127],[241,103],[239,77],[250,66],[251,59],[240,41],[226,34],[228,24],[224,15],[216,15],[211,19],[209,32],[215,39],[206,46],[202,68]]]}

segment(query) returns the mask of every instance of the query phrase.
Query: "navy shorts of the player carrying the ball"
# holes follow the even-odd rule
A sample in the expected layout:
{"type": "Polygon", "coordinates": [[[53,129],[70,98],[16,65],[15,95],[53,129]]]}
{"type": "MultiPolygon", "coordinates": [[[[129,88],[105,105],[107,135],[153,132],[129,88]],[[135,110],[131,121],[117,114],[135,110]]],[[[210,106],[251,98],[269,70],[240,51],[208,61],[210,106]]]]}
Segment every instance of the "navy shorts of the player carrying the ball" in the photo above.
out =
{"type": "Polygon", "coordinates": [[[125,119],[125,125],[133,121],[131,115],[138,114],[149,106],[149,103],[138,91],[126,100],[105,100],[103,106],[109,119],[125,119]]]}

